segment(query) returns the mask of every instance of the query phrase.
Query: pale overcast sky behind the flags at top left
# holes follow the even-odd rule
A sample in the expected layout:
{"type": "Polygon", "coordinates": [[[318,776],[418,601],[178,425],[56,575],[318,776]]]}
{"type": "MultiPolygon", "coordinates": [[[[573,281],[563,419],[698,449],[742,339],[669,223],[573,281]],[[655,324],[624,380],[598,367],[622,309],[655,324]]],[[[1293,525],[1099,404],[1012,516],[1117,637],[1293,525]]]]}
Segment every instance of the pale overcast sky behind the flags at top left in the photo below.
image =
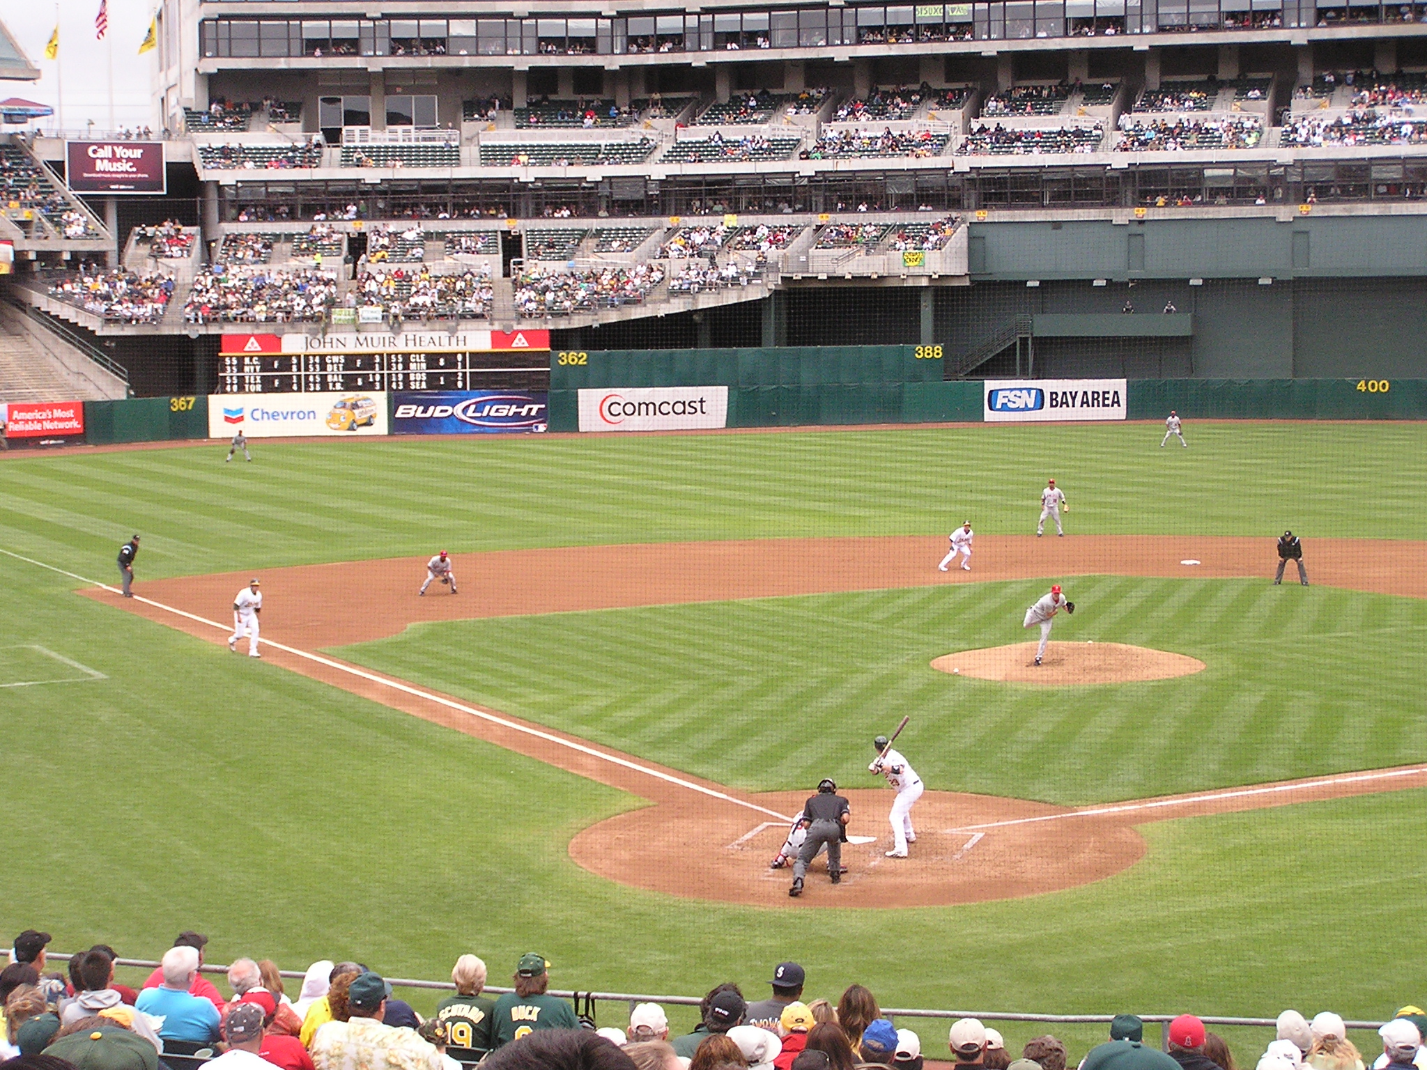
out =
{"type": "MultiPolygon", "coordinates": [[[[0,98],[23,97],[54,108],[56,116],[40,120],[44,130],[59,126],[60,74],[64,78],[64,126],[86,128],[94,120],[94,130],[110,126],[108,57],[114,58],[113,121],[120,128],[157,127],[150,96],[150,61],[157,51],[138,54],[138,46],[148,31],[148,20],[157,10],[157,0],[108,0],[108,33],[103,41],[94,39],[94,16],[98,0],[0,0],[0,19],[10,27],[30,61],[43,71],[39,81],[0,83],[0,98]],[[56,11],[59,11],[56,14],[56,11]],[[60,24],[59,63],[44,58],[44,44],[50,40],[56,20],[60,24]]],[[[21,127],[4,127],[21,130],[21,127]]]]}

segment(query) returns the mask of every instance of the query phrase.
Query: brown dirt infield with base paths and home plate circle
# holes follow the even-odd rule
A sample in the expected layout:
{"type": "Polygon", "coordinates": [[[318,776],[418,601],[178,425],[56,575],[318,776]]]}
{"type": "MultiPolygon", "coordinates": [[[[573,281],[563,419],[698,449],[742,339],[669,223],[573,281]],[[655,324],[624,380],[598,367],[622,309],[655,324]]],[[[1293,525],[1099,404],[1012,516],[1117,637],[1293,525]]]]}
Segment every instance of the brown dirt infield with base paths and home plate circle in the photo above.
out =
{"type": "MultiPolygon", "coordinates": [[[[975,571],[949,574],[936,571],[942,554],[945,539],[935,536],[461,554],[455,558],[461,593],[428,591],[425,598],[417,598],[425,578],[424,556],[270,569],[260,574],[265,603],[263,652],[270,663],[648,799],[649,806],[577,835],[571,857],[611,880],[691,899],[815,909],[930,906],[1037,895],[1099,880],[1134,863],[1144,853],[1134,826],[1147,820],[1427,786],[1424,765],[1079,809],[928,792],[913,810],[918,842],[908,859],[883,857],[890,840],[886,813],[892,795],[852,790],[855,817],[849,833],[876,839],[846,847],[843,857],[850,872],[842,886],[831,887],[818,862],[808,892],[791,900],[788,870],[769,870],[768,862],[786,833],[786,815],[801,807],[808,792],[739,792],[314,653],[397,635],[421,621],[1027,576],[1267,578],[1276,564],[1271,538],[982,535],[976,539],[975,571]],[[1184,559],[1202,564],[1184,566],[1184,559]],[[362,592],[361,612],[350,609],[355,591],[362,592]],[[668,863],[686,856],[691,829],[698,829],[701,843],[712,845],[692,879],[686,867],[668,863]]],[[[1316,584],[1427,598],[1423,561],[1420,542],[1316,539],[1309,575],[1316,584]]],[[[134,586],[138,598],[118,598],[107,586],[83,593],[223,643],[233,596],[251,575],[244,571],[153,582],[140,575],[134,586]]]]}

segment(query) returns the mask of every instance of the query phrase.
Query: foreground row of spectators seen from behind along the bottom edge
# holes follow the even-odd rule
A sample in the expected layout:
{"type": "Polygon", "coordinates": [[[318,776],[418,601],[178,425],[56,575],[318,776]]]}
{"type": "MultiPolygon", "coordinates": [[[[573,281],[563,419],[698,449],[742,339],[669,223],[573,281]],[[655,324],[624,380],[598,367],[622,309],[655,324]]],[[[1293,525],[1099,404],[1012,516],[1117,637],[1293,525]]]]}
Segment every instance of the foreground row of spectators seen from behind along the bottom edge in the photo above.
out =
{"type": "MultiPolygon", "coordinates": [[[[201,933],[180,933],[138,989],[116,980],[117,953],[96,944],[68,963],[68,977],[47,970],[47,933],[14,939],[11,964],[0,973],[4,1034],[0,1059],[14,1070],[158,1070],[161,1054],[184,1053],[214,1070],[923,1070],[939,1057],[955,1070],[1236,1070],[1229,1043],[1194,1014],[1166,1026],[1166,1049],[1144,1043],[1144,1023],[1117,1014],[1106,1039],[1077,1061],[1052,1034],[1013,1043],[975,1017],[952,1021],[946,1047],[932,1040],[943,1026],[918,1021],[898,1029],[878,997],[849,984],[832,999],[809,992],[795,962],[773,967],[766,999],[736,982],[714,986],[698,1004],[698,1021],[676,1033],[658,1003],[616,1012],[618,1024],[595,1027],[549,994],[549,963],[527,953],[515,963],[514,990],[492,999],[488,969],[462,954],[451,970],[454,994],[422,1017],[392,993],[381,974],[355,962],[318,960],[297,999],[271,960],[238,959],[227,969],[225,997],[201,973],[201,933]],[[200,1049],[210,1053],[195,1054],[200,1049]],[[170,1051],[173,1049],[173,1051],[170,1051]],[[1015,1053],[1019,1050],[1019,1057],[1015,1053]]],[[[765,974],[766,976],[766,974],[765,974]]],[[[832,994],[832,993],[829,993],[832,994]]],[[[1030,1030],[1027,1029],[1027,1033],[1030,1030]]],[[[1284,1010],[1257,1070],[1418,1070],[1427,1061],[1427,1012],[1404,1006],[1360,1051],[1341,1016],[1311,1020],[1284,1010]]],[[[1079,1054],[1079,1053],[1076,1053],[1079,1054]]],[[[1241,1056],[1243,1057],[1243,1053],[1241,1056]]]]}

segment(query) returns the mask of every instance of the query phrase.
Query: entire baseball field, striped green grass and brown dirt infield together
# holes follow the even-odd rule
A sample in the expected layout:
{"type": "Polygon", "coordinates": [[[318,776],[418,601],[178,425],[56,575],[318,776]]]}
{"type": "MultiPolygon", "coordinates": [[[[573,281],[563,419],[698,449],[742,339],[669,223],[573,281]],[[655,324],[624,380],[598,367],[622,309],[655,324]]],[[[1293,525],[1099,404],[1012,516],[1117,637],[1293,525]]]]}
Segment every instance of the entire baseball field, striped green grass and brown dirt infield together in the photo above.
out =
{"type": "Polygon", "coordinates": [[[213,960],[428,977],[475,950],[492,983],[534,949],[601,990],[762,994],[795,957],[883,1006],[1421,1003],[1420,428],[1162,434],[0,457],[0,913],[57,950],[193,927],[213,960]],[[1067,534],[1036,539],[1052,475],[1067,534]],[[973,571],[940,574],[963,519],[973,571]],[[1284,528],[1313,586],[1269,582],[1284,528]],[[90,581],[133,532],[124,602],[90,581]],[[459,595],[418,599],[438,549],[459,595]],[[263,661],[224,643],[250,576],[263,661]],[[1042,682],[932,668],[1025,642],[1052,582],[1077,612],[1042,682]],[[1079,678],[1095,643],[1204,668],[1079,678]],[[895,862],[866,763],[903,715],[929,792],[895,862]],[[822,776],[878,840],[789,900],[768,859],[822,776]]]}

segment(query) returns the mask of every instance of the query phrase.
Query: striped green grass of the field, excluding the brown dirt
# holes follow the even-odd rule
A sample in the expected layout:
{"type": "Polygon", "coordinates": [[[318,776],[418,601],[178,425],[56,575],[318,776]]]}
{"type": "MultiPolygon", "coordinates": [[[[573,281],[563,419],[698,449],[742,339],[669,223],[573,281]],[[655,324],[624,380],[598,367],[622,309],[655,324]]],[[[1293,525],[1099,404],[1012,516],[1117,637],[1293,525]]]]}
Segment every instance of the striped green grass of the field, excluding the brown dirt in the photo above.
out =
{"type": "MultiPolygon", "coordinates": [[[[1050,474],[1072,531],[1271,535],[1291,522],[1310,566],[1316,535],[1418,536],[1414,427],[1189,425],[1189,451],[1159,449],[1160,434],[257,442],[251,465],[224,465],[220,445],[10,457],[0,548],[111,582],[118,542],[140,531],[141,589],[146,576],[437,544],[945,534],[968,511],[980,531],[1010,532],[1033,526],[1050,474]]],[[[53,659],[30,649],[43,646],[106,676],[0,691],[0,926],[47,929],[57,950],[104,940],[154,956],[197,927],[214,960],[355,956],[427,977],[477,950],[499,979],[538,949],[557,986],[581,989],[699,993],[732,977],[762,994],[771,964],[798,957],[809,994],[858,980],[889,1006],[1371,1017],[1423,1000],[1403,933],[1420,924],[1427,792],[1149,825],[1130,870],[1025,900],[696,905],[569,860],[577,829],[638,799],[74,586],[0,556],[0,673],[43,672],[53,659]]],[[[916,710],[908,750],[933,786],[1062,802],[1420,760],[1418,602],[1086,578],[1073,589],[1085,612],[1056,638],[1162,646],[1210,669],[1046,693],[926,668],[1025,639],[1039,586],[448,623],[344,653],[748,788],[803,786],[829,765],[856,776],[869,728],[900,708],[916,710]]],[[[686,857],[648,865],[696,873],[705,849],[691,827],[686,857]]],[[[1019,1046],[1039,1030],[1006,1031],[1019,1046]]],[[[1099,1036],[1057,1031],[1075,1056],[1099,1036]]],[[[925,1036],[939,1050],[945,1029],[925,1036]]]]}

